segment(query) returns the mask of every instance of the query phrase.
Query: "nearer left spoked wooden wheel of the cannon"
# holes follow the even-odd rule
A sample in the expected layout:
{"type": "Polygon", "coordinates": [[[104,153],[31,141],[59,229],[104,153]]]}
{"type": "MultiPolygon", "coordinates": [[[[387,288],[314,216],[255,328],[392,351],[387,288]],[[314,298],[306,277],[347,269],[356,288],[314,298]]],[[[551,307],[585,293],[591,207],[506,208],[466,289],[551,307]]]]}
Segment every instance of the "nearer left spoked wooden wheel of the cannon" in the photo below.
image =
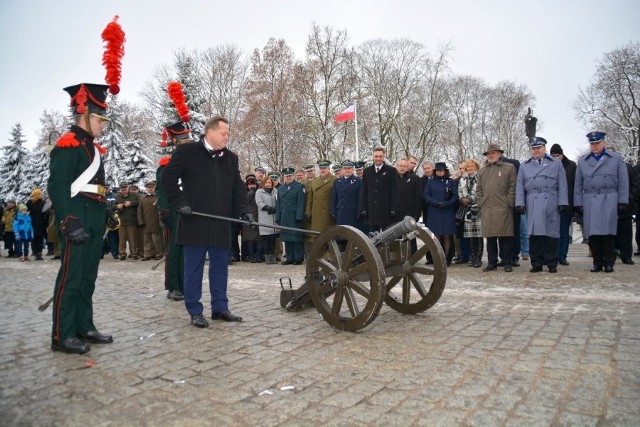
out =
{"type": "Polygon", "coordinates": [[[317,236],[306,274],[314,306],[334,328],[354,332],[378,315],[385,293],[384,265],[371,240],[357,228],[335,225],[317,236]]]}

